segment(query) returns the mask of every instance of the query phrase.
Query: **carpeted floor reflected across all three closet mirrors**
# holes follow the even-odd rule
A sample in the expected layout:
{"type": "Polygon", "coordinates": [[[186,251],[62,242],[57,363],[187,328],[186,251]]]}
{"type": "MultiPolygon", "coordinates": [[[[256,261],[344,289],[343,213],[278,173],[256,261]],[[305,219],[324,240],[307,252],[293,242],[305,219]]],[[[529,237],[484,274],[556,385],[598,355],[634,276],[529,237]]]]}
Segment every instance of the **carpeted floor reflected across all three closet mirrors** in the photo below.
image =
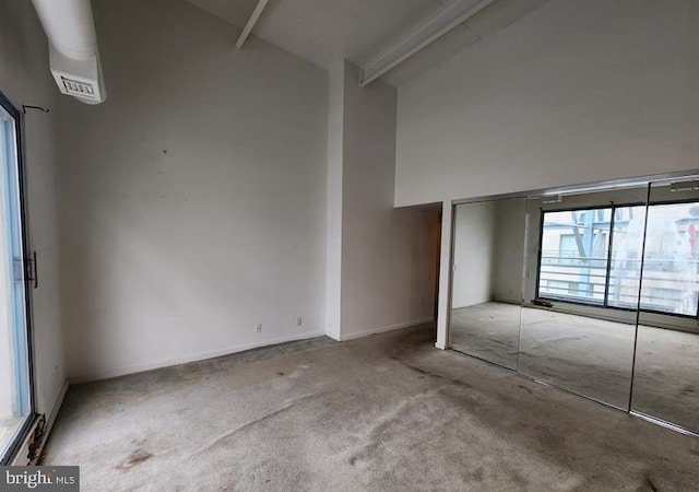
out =
{"type": "MultiPolygon", "coordinates": [[[[628,409],[635,327],[546,309],[484,303],[454,309],[450,347],[628,409]]],[[[639,327],[632,408],[699,431],[699,336],[639,327]]]]}

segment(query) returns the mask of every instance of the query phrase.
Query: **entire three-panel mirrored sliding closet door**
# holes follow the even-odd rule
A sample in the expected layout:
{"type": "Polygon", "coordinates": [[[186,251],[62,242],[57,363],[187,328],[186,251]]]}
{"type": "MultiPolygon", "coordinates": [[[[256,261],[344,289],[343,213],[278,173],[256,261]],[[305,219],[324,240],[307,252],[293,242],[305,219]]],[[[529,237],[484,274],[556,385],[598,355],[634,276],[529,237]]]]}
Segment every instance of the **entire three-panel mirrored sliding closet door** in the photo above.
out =
{"type": "Polygon", "coordinates": [[[699,434],[699,180],[454,207],[450,348],[699,434]]]}

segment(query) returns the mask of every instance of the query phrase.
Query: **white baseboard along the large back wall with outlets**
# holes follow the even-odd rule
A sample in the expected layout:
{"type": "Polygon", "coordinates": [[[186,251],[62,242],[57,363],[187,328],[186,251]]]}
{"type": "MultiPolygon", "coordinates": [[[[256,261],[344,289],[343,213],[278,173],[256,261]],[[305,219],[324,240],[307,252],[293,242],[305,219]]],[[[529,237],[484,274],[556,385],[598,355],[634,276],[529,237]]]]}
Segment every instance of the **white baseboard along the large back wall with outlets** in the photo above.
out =
{"type": "Polygon", "coordinates": [[[208,359],[221,358],[224,355],[230,355],[238,352],[245,352],[246,350],[276,345],[279,343],[286,343],[291,341],[307,340],[309,338],[323,337],[325,333],[323,331],[310,331],[307,333],[299,333],[291,337],[280,337],[271,340],[264,340],[261,342],[245,343],[241,345],[229,347],[227,349],[211,350],[206,352],[197,352],[189,355],[182,355],[180,358],[165,359],[165,360],[152,362],[149,364],[131,365],[128,367],[98,371],[96,373],[85,373],[78,376],[71,376],[69,380],[71,385],[79,385],[83,383],[90,383],[93,380],[109,379],[111,377],[127,376],[129,374],[142,373],[144,371],[152,371],[156,368],[170,367],[173,365],[187,364],[189,362],[205,361],[208,359]]]}

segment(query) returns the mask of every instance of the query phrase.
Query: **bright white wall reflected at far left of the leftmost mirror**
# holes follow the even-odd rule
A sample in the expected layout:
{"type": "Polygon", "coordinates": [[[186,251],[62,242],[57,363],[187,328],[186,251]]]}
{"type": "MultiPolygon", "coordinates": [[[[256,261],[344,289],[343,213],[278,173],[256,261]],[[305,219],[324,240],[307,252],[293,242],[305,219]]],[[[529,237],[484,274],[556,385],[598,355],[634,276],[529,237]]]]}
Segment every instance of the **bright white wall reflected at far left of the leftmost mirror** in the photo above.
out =
{"type": "Polygon", "coordinates": [[[454,210],[451,307],[490,301],[495,251],[494,202],[464,203],[454,210]]]}

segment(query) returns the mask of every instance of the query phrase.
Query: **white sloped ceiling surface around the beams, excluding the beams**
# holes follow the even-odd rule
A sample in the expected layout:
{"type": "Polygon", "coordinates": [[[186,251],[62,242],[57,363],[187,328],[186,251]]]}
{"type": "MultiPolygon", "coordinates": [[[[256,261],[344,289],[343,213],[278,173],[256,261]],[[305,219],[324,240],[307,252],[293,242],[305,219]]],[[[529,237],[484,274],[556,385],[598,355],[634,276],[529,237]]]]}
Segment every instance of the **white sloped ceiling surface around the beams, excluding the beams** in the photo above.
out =
{"type": "MultiPolygon", "coordinates": [[[[238,28],[258,3],[188,1],[238,28]]],[[[393,85],[406,83],[546,1],[495,0],[382,79],[393,85]]],[[[449,0],[270,0],[252,34],[325,69],[342,58],[362,67],[447,3],[449,0]]]]}

